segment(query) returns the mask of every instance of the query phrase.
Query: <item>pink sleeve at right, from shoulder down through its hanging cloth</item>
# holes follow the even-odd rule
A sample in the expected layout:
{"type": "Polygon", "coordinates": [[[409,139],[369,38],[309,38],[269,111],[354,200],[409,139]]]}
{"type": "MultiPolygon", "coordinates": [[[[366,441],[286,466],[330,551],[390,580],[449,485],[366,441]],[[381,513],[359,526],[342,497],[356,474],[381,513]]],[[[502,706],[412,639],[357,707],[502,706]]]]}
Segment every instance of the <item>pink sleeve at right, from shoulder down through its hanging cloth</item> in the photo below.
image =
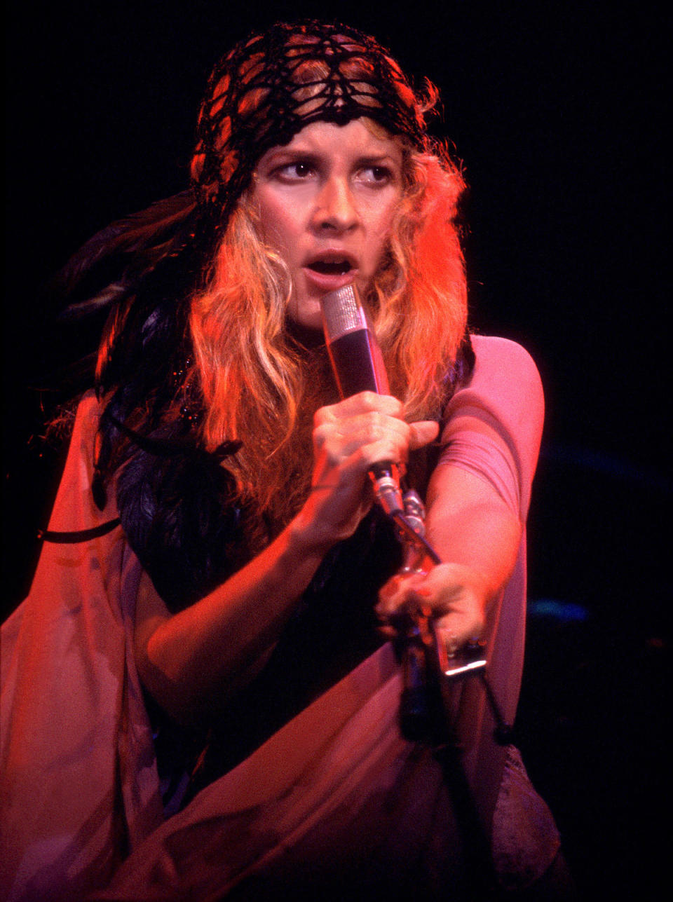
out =
{"type": "MultiPolygon", "coordinates": [[[[459,466],[493,486],[521,521],[521,540],[512,576],[489,611],[486,630],[488,674],[508,723],[513,723],[521,688],[526,625],[526,515],[537,464],[544,399],[530,354],[505,338],[473,336],[475,370],[447,406],[440,465],[459,466]]],[[[493,744],[492,714],[482,693],[469,712],[466,761],[474,766],[475,792],[493,810],[504,753],[493,744]],[[476,725],[479,724],[477,727],[476,725]]]]}

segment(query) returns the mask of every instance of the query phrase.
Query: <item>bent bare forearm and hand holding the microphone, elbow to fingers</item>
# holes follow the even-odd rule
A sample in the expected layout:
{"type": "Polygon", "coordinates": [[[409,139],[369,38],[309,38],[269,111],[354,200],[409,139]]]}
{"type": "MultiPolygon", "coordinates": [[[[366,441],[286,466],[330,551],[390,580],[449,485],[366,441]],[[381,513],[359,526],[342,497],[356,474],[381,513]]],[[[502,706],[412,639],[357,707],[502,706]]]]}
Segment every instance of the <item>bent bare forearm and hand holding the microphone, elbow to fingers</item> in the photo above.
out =
{"type": "Polygon", "coordinates": [[[327,549],[351,536],[369,510],[372,464],[405,460],[437,436],[436,423],[401,417],[400,401],[372,392],[321,408],[309,496],[269,548],[174,616],[143,581],[135,656],[143,684],[169,713],[182,720],[207,713],[264,666],[327,549]]]}

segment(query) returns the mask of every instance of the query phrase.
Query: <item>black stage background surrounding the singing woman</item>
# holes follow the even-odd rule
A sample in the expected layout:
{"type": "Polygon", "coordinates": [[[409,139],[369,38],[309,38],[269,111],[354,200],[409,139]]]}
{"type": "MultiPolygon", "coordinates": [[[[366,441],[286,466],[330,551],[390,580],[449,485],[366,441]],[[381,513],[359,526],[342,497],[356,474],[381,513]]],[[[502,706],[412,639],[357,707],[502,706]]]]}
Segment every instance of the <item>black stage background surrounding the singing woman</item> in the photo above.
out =
{"type": "Polygon", "coordinates": [[[24,388],[45,353],[41,284],[98,228],[186,186],[212,63],[303,15],[376,34],[442,91],[435,130],[470,185],[473,324],[530,350],[548,403],[519,742],[583,895],[654,897],[670,839],[671,481],[669,23],[653,6],[9,5],[3,611],[27,591],[58,481],[24,388]]]}

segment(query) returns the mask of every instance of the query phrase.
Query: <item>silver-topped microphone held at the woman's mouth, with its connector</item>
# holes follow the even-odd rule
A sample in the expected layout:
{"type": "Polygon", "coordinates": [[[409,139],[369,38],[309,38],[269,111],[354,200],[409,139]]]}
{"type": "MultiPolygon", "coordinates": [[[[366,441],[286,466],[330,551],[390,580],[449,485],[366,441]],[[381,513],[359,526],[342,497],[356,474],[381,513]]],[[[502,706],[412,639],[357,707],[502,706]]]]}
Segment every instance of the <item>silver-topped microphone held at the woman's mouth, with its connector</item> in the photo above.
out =
{"type": "MultiPolygon", "coordinates": [[[[388,394],[388,376],[383,354],[376,341],[355,285],[330,291],[320,300],[325,343],[337,387],[342,398],[358,391],[388,394]]],[[[403,511],[400,483],[394,462],[373,465],[376,500],[389,516],[403,511]]]]}

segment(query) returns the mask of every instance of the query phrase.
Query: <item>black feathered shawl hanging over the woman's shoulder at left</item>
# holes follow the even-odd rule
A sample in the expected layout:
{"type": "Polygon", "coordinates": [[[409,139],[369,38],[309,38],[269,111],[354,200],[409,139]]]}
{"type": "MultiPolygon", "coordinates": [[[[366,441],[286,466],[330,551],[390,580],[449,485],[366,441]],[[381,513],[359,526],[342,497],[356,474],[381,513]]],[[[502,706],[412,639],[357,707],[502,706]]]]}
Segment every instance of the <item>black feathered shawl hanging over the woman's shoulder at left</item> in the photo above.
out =
{"type": "MultiPolygon", "coordinates": [[[[221,466],[240,443],[212,454],[198,444],[202,401],[190,378],[189,299],[204,278],[211,243],[212,231],[185,191],[107,226],[56,280],[71,298],[62,320],[79,324],[107,313],[92,491],[102,508],[114,484],[129,544],[173,612],[224,582],[271,538],[236,501],[234,478],[221,466]]],[[[473,365],[466,336],[447,373],[447,400],[473,365]]],[[[92,368],[87,375],[82,389],[93,381],[92,368]]],[[[318,583],[324,591],[324,577],[317,575],[318,583]]]]}

